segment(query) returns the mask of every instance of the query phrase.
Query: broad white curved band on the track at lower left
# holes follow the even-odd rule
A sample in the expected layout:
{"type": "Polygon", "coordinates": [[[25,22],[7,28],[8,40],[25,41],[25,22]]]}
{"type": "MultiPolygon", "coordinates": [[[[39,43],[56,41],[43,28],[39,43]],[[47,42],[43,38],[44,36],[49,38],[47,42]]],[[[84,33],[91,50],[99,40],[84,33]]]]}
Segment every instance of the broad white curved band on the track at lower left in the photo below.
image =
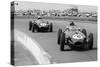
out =
{"type": "Polygon", "coordinates": [[[18,30],[14,30],[14,33],[15,41],[22,43],[32,53],[39,64],[51,64],[51,56],[35,40],[32,40],[32,38],[18,30]]]}

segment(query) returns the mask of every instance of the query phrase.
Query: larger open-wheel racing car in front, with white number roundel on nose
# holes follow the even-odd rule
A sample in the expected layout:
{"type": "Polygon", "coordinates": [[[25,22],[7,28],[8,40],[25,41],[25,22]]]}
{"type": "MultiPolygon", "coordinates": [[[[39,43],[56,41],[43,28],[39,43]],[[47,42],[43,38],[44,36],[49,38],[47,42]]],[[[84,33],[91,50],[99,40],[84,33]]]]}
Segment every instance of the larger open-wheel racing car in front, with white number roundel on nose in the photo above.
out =
{"type": "Polygon", "coordinates": [[[67,26],[62,32],[58,30],[57,43],[60,45],[60,50],[65,50],[65,45],[70,49],[89,50],[93,48],[93,33],[87,36],[86,29],[81,29],[78,26],[67,26]]]}

